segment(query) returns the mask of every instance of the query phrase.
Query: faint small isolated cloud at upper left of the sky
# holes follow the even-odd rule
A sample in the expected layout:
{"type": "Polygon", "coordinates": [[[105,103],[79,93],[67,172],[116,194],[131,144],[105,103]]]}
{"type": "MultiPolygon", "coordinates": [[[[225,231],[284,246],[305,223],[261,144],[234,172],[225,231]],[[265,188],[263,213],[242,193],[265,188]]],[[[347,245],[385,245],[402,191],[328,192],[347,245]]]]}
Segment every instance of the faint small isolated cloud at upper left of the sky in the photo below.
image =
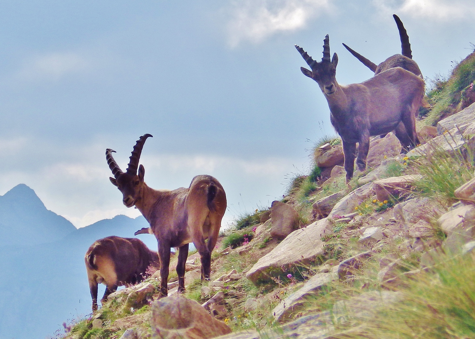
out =
{"type": "Polygon", "coordinates": [[[26,60],[17,76],[26,81],[57,81],[67,75],[87,71],[90,67],[90,61],[77,53],[49,53],[26,60]]]}

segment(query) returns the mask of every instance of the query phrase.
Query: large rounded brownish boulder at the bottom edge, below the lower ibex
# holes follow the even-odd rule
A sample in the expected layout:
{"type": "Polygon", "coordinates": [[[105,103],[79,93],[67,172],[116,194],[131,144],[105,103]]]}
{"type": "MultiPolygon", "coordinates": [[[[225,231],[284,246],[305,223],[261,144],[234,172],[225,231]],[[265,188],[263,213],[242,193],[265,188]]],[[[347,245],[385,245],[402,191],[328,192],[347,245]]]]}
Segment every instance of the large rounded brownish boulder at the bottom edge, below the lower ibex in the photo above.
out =
{"type": "Polygon", "coordinates": [[[150,323],[152,339],[203,339],[231,332],[198,302],[181,296],[154,301],[150,323]]]}

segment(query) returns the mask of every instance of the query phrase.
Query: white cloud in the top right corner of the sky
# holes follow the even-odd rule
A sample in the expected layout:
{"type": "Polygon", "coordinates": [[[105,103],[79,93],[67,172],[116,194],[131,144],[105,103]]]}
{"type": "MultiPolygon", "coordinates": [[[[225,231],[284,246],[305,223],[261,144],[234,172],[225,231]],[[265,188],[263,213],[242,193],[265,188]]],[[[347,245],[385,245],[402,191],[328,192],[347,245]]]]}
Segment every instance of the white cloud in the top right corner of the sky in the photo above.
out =
{"type": "Polygon", "coordinates": [[[376,7],[390,13],[404,13],[413,18],[453,20],[473,18],[475,3],[460,0],[373,0],[376,7]]]}

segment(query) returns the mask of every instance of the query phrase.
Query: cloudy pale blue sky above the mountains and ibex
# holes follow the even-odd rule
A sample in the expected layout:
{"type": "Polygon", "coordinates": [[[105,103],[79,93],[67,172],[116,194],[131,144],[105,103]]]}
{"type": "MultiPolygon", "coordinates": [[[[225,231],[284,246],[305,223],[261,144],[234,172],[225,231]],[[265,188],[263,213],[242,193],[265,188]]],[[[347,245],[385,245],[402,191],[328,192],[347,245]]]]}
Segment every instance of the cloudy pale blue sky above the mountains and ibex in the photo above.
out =
{"type": "Polygon", "coordinates": [[[294,44],[338,53],[337,80],[400,53],[403,21],[425,77],[447,75],[475,43],[475,1],[3,1],[0,4],[0,194],[19,183],[84,227],[137,216],[109,182],[105,148],[125,170],[135,140],[145,181],[188,187],[210,174],[225,223],[282,196],[333,134],[328,105],[294,44]]]}

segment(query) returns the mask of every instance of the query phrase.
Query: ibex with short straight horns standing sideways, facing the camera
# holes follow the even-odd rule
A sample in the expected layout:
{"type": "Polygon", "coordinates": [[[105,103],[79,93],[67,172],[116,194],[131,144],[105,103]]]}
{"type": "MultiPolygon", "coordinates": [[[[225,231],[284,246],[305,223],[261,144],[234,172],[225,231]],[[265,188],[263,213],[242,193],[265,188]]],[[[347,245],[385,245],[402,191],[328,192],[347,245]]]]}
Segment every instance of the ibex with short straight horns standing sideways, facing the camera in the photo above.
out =
{"type": "Polygon", "coordinates": [[[370,136],[395,129],[401,144],[414,147],[419,143],[416,133],[416,112],[424,95],[424,81],[401,67],[390,68],[370,80],[340,86],[336,82],[338,55],[330,60],[330,39],[323,40],[323,58],[316,62],[301,47],[295,45],[312,68],[300,67],[302,73],[314,79],[330,107],[330,121],[343,142],[346,181],[353,176],[356,143],[359,143],[358,169],[366,168],[370,136]],[[399,124],[402,122],[402,124],[399,124]],[[400,126],[405,129],[400,128],[400,126]],[[407,133],[406,133],[407,131],[407,133]]]}

